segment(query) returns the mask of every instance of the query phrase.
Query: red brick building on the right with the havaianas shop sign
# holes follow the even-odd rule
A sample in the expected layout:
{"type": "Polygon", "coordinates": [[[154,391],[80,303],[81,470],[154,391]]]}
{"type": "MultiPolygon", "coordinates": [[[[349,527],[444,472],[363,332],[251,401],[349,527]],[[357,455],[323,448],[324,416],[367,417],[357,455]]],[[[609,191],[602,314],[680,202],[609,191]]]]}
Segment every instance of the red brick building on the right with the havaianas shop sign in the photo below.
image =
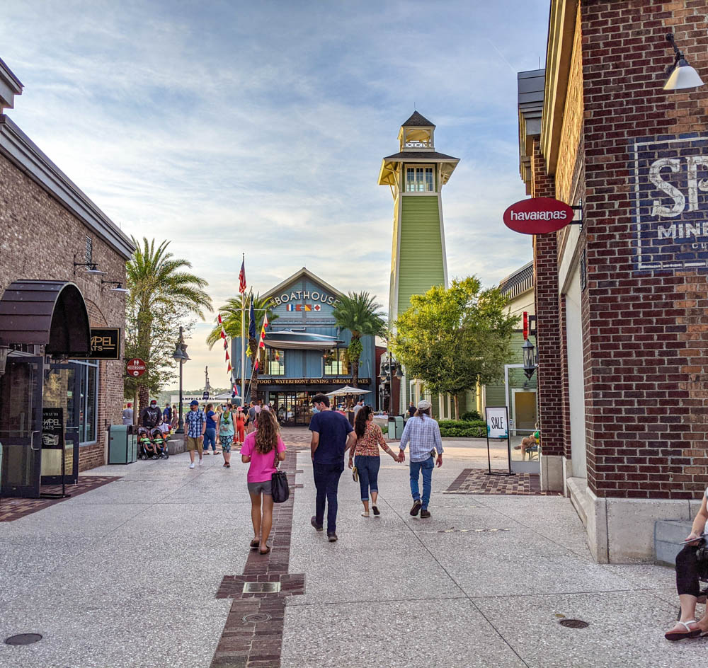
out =
{"type": "Polygon", "coordinates": [[[527,193],[583,206],[533,239],[542,481],[600,562],[651,560],[708,483],[708,90],[663,90],[666,33],[706,79],[705,0],[552,0],[519,75],[527,193]]]}

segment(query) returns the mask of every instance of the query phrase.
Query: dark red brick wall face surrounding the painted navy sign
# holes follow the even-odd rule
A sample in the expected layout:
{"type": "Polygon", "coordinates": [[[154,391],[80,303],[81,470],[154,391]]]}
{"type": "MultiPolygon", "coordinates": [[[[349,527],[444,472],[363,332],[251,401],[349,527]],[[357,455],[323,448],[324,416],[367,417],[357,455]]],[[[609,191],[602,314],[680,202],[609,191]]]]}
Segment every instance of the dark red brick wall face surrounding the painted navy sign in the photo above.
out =
{"type": "Polygon", "coordinates": [[[705,88],[662,90],[670,30],[708,74],[707,14],[705,0],[581,4],[586,427],[598,496],[695,497],[708,478],[706,275],[636,271],[631,172],[634,138],[708,132],[705,88]]]}

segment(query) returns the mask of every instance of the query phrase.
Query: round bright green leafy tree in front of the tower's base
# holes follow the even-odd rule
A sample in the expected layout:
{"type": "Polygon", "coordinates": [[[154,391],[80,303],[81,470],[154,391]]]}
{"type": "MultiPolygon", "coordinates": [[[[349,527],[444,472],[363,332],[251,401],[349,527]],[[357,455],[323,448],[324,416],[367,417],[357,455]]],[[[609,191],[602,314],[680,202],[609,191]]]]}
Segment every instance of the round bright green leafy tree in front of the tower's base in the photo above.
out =
{"type": "Polygon", "coordinates": [[[413,295],[411,308],[396,320],[394,354],[406,375],[432,393],[452,394],[455,419],[458,394],[498,378],[510,355],[518,316],[508,315],[506,301],[472,276],[413,295]]]}

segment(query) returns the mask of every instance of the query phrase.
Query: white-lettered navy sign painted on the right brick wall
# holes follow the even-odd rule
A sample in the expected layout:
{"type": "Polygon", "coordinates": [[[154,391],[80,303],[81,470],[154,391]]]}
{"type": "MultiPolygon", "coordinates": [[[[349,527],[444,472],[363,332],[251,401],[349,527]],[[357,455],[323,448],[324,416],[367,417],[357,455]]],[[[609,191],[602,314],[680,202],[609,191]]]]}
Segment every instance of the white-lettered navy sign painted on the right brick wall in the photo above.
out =
{"type": "Polygon", "coordinates": [[[634,268],[708,267],[708,135],[634,142],[634,268]]]}

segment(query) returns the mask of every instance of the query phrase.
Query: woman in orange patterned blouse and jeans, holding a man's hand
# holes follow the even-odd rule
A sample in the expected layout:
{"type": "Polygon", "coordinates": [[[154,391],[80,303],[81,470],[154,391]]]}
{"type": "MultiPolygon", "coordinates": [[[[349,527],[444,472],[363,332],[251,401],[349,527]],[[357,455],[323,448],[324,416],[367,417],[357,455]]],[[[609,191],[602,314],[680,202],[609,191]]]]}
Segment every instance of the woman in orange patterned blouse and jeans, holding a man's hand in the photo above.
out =
{"type": "Polygon", "coordinates": [[[379,467],[381,456],[379,447],[387,452],[394,461],[400,461],[399,456],[389,448],[384,439],[381,427],[374,423],[374,410],[371,406],[362,406],[354,419],[356,441],[349,454],[349,468],[356,466],[361,488],[361,502],[364,504],[362,517],[369,517],[369,490],[371,490],[371,509],[374,517],[380,517],[381,512],[376,505],[379,496],[379,467]]]}

